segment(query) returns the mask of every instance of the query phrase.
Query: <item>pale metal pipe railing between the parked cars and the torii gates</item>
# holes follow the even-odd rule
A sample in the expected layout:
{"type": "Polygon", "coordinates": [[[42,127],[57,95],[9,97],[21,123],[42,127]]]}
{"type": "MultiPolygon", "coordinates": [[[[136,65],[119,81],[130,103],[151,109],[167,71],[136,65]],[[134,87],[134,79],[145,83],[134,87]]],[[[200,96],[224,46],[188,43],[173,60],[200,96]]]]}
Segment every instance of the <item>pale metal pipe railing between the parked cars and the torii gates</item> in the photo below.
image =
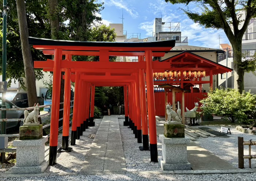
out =
{"type": "MultiPolygon", "coordinates": [[[[70,115],[69,117],[73,117],[73,107],[74,107],[74,104],[72,104],[74,102],[74,100],[71,100],[70,103],[70,115]]],[[[63,104],[63,102],[61,102],[60,104],[63,104]]],[[[48,107],[48,106],[52,106],[52,105],[43,105],[43,106],[39,106],[39,108],[42,108],[42,107],[48,107]]],[[[32,110],[34,109],[34,107],[27,107],[27,108],[1,108],[1,110],[32,110]]],[[[59,111],[63,111],[64,109],[60,109],[59,111]]],[[[38,118],[40,117],[45,117],[47,115],[50,115],[51,112],[49,113],[45,113],[45,114],[40,114],[38,115],[38,118]]],[[[63,120],[63,118],[59,119],[59,121],[63,120]]],[[[9,122],[9,121],[23,121],[22,119],[0,119],[0,122],[2,121],[5,121],[5,122],[9,122]]],[[[69,124],[72,123],[72,120],[69,121],[69,124]]],[[[46,127],[49,127],[50,126],[50,123],[47,124],[47,125],[44,125],[43,126],[43,129],[45,129],[46,127]]],[[[59,131],[63,129],[63,126],[59,127],[59,131]]],[[[19,134],[0,134],[0,137],[19,137],[19,134]]],[[[46,137],[50,137],[50,134],[48,134],[46,137]]],[[[4,149],[0,149],[0,153],[8,153],[8,152],[16,152],[16,148],[4,148],[4,149]]]]}

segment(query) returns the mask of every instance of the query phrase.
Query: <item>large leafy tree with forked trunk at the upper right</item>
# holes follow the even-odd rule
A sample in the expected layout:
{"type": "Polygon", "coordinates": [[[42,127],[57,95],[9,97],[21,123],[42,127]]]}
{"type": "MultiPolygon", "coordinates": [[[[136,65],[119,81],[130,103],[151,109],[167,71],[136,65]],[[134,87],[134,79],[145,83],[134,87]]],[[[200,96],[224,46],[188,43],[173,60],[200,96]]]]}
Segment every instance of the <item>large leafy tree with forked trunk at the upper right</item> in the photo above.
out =
{"type": "Polygon", "coordinates": [[[206,28],[223,29],[233,47],[234,88],[244,90],[244,72],[255,70],[252,62],[242,62],[242,37],[249,21],[256,15],[255,1],[230,0],[165,0],[172,4],[195,3],[196,11],[182,9],[194,21],[206,28]],[[238,12],[244,11],[245,19],[239,19],[238,12]],[[242,27],[240,27],[240,24],[242,27]],[[238,27],[239,26],[239,27],[238,27]],[[252,67],[253,66],[253,67],[252,67]]]}

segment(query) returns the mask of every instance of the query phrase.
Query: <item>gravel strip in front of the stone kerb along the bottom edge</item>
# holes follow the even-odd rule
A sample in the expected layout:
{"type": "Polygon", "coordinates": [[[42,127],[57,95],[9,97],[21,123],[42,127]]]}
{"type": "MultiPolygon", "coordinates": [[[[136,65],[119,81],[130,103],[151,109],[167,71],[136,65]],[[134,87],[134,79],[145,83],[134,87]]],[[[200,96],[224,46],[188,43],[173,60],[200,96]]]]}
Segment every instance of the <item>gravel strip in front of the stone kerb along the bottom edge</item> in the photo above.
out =
{"type": "Polygon", "coordinates": [[[255,181],[256,173],[250,174],[208,174],[208,175],[175,175],[175,174],[109,174],[78,175],[50,177],[1,178],[1,181],[255,181]]]}

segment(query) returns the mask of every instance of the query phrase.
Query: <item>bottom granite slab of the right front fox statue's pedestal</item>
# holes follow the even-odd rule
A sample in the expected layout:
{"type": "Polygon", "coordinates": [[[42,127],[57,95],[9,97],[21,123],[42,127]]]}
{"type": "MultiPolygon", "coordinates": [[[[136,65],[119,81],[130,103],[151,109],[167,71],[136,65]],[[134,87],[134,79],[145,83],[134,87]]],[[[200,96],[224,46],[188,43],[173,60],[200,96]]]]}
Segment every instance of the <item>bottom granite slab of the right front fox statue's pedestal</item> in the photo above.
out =
{"type": "Polygon", "coordinates": [[[189,162],[182,164],[166,164],[162,158],[158,159],[162,170],[191,170],[191,164],[189,162]]]}

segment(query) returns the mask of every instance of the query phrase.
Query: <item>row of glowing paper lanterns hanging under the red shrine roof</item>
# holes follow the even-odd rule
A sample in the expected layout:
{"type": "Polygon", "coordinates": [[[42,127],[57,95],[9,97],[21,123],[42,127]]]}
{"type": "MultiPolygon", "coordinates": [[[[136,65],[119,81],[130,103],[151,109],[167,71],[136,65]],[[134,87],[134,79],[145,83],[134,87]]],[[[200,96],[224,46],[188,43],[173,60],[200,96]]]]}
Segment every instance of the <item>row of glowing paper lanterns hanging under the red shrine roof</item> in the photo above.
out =
{"type": "MultiPolygon", "coordinates": [[[[205,70],[204,71],[183,71],[183,77],[191,77],[191,78],[197,78],[197,77],[205,77],[205,70]]],[[[153,73],[153,78],[156,77],[163,77],[163,78],[168,78],[168,77],[180,77],[181,76],[181,71],[165,71],[165,72],[154,72],[153,73]]]]}

